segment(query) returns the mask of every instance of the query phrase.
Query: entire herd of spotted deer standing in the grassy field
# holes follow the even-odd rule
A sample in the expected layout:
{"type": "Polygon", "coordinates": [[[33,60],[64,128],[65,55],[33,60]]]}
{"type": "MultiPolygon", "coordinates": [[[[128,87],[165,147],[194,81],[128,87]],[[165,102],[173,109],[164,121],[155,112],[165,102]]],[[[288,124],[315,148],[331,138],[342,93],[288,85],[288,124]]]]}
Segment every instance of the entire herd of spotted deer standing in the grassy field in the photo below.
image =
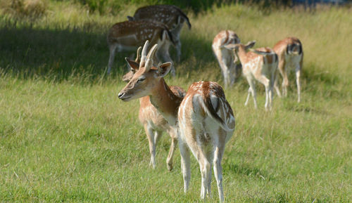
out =
{"type": "MultiPolygon", "coordinates": [[[[195,82],[184,91],[178,86],[168,86],[163,79],[168,72],[175,75],[168,49],[170,45],[174,45],[177,60],[180,60],[180,31],[184,22],[187,22],[190,29],[189,19],[180,8],[156,5],[139,8],[133,17],[128,17],[128,21],[113,25],[108,32],[108,73],[111,72],[116,49],[135,50],[139,46],[135,60],[126,58],[131,69],[123,77],[128,83],[118,93],[118,98],[123,101],[139,98],[139,120],[144,125],[149,140],[151,166],[156,166],[158,139],[163,131],[167,131],[172,139],[167,166],[172,170],[172,157],[178,140],[184,192],[189,188],[191,150],[201,169],[201,198],[210,195],[213,167],[219,199],[223,202],[221,160],[225,143],[231,138],[235,127],[234,114],[225,93],[222,87],[213,81],[195,82]],[[153,45],[150,50],[149,44],[153,45]],[[161,60],[165,63],[159,63],[161,60]]],[[[245,105],[248,104],[251,94],[254,106],[257,107],[254,81],[258,80],[265,86],[265,110],[271,110],[272,89],[275,88],[277,95],[281,96],[277,87],[277,70],[283,77],[282,94],[287,96],[287,74],[293,67],[296,70],[300,102],[303,61],[301,41],[288,37],[279,41],[273,48],[252,49],[255,43],[256,41],[250,41],[246,45],[241,44],[237,34],[230,30],[215,36],[212,48],[221,67],[225,87],[234,84],[243,72],[249,82],[245,105]]]]}

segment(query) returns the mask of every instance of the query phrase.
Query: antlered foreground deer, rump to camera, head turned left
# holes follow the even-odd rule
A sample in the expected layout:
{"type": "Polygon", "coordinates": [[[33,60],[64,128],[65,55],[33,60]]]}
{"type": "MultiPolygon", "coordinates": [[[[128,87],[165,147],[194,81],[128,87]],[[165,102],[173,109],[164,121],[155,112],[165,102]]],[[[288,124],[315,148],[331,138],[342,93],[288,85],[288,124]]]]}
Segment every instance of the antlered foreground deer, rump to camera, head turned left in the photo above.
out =
{"type": "MultiPolygon", "coordinates": [[[[144,48],[146,46],[148,46],[148,41],[144,48]]],[[[158,65],[158,68],[153,67],[152,56],[155,52],[156,45],[151,48],[147,56],[144,56],[146,61],[142,54],[139,66],[130,63],[136,72],[125,88],[120,91],[118,98],[128,101],[149,96],[151,104],[168,123],[180,129],[179,146],[184,192],[187,192],[189,188],[190,148],[201,166],[201,197],[205,198],[207,192],[210,195],[210,167],[214,163],[220,202],[223,202],[221,159],[225,143],[234,131],[235,121],[232,109],[227,103],[221,86],[211,81],[199,81],[192,84],[184,100],[176,96],[163,79],[170,71],[171,63],[163,63],[158,65]]]]}

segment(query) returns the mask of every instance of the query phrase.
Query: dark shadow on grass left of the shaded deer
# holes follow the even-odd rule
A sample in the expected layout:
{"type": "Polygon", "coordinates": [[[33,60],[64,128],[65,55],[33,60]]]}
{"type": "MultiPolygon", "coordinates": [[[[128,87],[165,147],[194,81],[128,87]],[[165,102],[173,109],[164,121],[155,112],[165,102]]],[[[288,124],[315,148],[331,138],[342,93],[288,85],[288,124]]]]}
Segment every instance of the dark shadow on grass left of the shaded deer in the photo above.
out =
{"type": "MultiPolygon", "coordinates": [[[[72,75],[97,77],[106,71],[108,46],[106,30],[91,23],[81,28],[66,26],[34,29],[5,25],[0,28],[0,67],[23,77],[43,76],[65,79],[72,75]],[[99,32],[94,32],[99,30],[99,32]]],[[[122,73],[125,53],[116,54],[114,72],[122,73]]]]}

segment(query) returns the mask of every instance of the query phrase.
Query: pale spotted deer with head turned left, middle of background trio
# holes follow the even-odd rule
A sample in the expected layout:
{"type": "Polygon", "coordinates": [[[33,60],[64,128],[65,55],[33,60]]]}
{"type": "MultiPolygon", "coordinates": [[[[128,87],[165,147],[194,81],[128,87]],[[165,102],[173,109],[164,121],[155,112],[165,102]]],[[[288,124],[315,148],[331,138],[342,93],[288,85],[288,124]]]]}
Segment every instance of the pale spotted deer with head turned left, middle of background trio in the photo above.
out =
{"type": "Polygon", "coordinates": [[[277,75],[277,54],[271,48],[256,48],[256,50],[252,49],[247,53],[246,50],[253,47],[254,44],[256,41],[251,41],[246,45],[230,44],[225,47],[234,49],[234,53],[241,61],[242,72],[249,83],[248,96],[244,105],[248,104],[249,96],[252,94],[254,107],[257,108],[256,86],[254,84],[254,79],[256,79],[265,86],[265,110],[271,110],[272,89],[275,86],[277,75]]]}

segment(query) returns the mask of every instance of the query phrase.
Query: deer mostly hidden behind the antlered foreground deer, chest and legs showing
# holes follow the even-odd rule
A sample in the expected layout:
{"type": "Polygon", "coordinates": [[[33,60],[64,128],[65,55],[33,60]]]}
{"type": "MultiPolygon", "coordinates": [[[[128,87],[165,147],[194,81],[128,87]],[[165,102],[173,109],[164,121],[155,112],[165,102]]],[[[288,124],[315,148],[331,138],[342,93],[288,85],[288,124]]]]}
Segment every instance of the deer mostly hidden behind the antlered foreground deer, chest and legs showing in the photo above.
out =
{"type": "MultiPolygon", "coordinates": [[[[141,61],[139,52],[142,49],[142,47],[139,47],[137,50],[137,58],[136,60],[132,61],[126,58],[127,63],[135,63],[134,66],[139,66],[139,63],[141,61]]],[[[145,55],[145,53],[144,53],[145,55]]],[[[123,76],[123,81],[130,81],[134,75],[134,69],[131,68],[132,70],[125,74],[123,76]]],[[[184,98],[184,95],[186,94],[186,91],[184,91],[182,88],[179,86],[170,86],[170,90],[172,93],[174,93],[176,96],[180,98],[184,98]]],[[[163,131],[168,132],[168,134],[171,137],[171,145],[170,145],[170,151],[168,154],[168,158],[166,159],[166,165],[168,166],[168,170],[172,170],[172,160],[173,160],[173,155],[175,152],[175,148],[177,145],[177,128],[175,126],[171,126],[168,124],[168,122],[164,119],[164,117],[158,112],[156,107],[154,107],[151,102],[150,102],[150,97],[149,96],[144,96],[142,98],[139,98],[139,121],[143,124],[144,130],[146,131],[146,136],[149,141],[149,152],[151,153],[151,162],[150,165],[153,166],[153,169],[156,166],[155,162],[155,155],[156,155],[156,145],[158,143],[159,138],[161,138],[161,135],[163,131]]]]}

